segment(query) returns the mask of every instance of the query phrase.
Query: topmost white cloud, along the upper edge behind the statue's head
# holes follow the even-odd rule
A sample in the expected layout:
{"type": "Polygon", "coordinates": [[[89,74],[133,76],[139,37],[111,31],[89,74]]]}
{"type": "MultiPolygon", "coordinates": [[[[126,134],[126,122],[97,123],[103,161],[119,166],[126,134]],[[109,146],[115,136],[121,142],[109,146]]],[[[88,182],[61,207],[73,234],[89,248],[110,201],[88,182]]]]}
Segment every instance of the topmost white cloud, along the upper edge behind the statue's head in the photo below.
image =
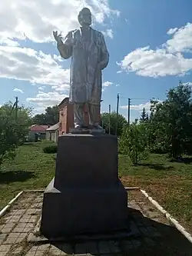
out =
{"type": "Polygon", "coordinates": [[[105,18],[118,16],[111,10],[108,0],[8,0],[1,2],[0,41],[6,38],[29,38],[34,42],[53,41],[52,31],[66,35],[77,28],[77,15],[81,8],[88,7],[94,22],[103,23],[105,18]]]}

